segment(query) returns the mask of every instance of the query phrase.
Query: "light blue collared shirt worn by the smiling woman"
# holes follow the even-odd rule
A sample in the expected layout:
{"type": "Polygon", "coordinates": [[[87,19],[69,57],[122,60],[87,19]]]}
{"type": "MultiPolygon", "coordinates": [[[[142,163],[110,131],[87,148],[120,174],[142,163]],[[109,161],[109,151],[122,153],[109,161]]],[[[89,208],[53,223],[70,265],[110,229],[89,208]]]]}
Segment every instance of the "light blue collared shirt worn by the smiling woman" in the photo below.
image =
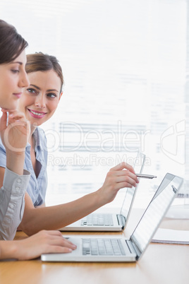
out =
{"type": "MultiPolygon", "coordinates": [[[[25,148],[25,165],[24,169],[28,170],[31,174],[30,181],[27,187],[27,192],[32,199],[34,206],[39,206],[44,203],[47,191],[47,138],[43,129],[37,127],[33,134],[35,141],[36,160],[39,161],[41,169],[38,177],[32,167],[32,160],[30,156],[30,143],[25,148]]],[[[6,152],[4,145],[0,141],[0,166],[6,167],[6,152]]]]}

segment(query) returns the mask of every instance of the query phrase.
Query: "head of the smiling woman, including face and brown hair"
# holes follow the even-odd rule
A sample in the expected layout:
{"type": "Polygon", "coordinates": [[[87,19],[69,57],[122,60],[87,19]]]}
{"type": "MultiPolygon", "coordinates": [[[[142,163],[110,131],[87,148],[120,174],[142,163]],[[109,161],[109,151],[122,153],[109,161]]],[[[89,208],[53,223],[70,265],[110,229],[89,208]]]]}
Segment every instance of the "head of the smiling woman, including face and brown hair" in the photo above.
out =
{"type": "Polygon", "coordinates": [[[25,88],[19,109],[31,126],[35,125],[34,130],[54,114],[62,95],[63,75],[56,58],[40,52],[28,54],[26,71],[30,86],[25,88]]]}

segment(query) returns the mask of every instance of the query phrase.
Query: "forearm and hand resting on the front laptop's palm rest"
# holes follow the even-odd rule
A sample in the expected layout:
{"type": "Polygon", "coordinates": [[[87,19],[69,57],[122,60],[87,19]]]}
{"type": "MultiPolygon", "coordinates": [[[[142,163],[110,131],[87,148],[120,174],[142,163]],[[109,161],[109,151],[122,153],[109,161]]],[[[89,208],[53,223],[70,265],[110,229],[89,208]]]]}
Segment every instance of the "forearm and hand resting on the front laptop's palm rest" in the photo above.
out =
{"type": "Polygon", "coordinates": [[[0,259],[35,259],[41,254],[68,253],[75,245],[59,231],[41,231],[19,241],[0,241],[0,259]]]}

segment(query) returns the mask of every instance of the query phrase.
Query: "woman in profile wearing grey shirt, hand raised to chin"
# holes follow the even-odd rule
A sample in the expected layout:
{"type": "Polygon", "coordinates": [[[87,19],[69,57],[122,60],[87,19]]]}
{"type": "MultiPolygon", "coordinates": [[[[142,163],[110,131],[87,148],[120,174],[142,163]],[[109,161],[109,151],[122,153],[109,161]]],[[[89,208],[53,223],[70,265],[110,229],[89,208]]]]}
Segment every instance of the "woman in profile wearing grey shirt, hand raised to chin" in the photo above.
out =
{"type": "Polygon", "coordinates": [[[11,241],[23,217],[24,196],[30,172],[23,170],[30,127],[16,110],[23,88],[28,87],[25,47],[28,43],[16,29],[0,20],[0,122],[6,165],[0,189],[0,259],[33,259],[47,252],[71,252],[75,246],[58,231],[42,231],[20,241],[11,241]]]}

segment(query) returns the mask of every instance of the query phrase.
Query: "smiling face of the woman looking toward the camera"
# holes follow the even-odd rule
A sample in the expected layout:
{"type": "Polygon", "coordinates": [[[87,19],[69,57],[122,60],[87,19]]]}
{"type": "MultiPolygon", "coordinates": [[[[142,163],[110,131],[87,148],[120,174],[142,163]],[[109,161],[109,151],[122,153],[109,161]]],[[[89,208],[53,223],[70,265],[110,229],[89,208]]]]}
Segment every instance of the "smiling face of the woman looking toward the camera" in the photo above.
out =
{"type": "Polygon", "coordinates": [[[19,110],[31,125],[39,126],[54,114],[62,93],[61,79],[54,70],[28,73],[30,85],[19,101],[19,110]]]}

